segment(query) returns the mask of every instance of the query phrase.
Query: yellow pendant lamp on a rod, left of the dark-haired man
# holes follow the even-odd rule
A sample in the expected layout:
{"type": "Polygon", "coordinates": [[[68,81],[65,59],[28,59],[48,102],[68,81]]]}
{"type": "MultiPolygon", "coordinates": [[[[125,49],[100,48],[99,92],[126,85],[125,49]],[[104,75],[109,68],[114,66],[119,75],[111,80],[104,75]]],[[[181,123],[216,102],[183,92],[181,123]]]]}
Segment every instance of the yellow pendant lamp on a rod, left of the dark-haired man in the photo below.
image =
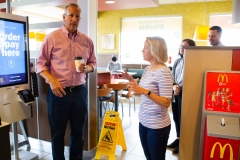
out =
{"type": "Polygon", "coordinates": [[[204,21],[202,26],[197,26],[194,32],[193,40],[195,41],[206,41],[208,40],[209,26],[205,25],[206,16],[206,2],[204,1],[204,21]]]}

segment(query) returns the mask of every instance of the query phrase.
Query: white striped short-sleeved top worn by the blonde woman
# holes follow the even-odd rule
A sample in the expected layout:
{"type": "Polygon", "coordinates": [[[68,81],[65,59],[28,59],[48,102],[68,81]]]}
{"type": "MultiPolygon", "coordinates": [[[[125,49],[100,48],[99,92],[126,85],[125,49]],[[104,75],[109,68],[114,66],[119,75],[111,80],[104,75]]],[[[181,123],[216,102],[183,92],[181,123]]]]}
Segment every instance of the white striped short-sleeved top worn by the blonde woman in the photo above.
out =
{"type": "MultiPolygon", "coordinates": [[[[173,78],[168,67],[155,71],[146,67],[139,85],[157,95],[172,99],[173,78]]],[[[138,116],[140,123],[151,129],[164,128],[171,124],[168,109],[157,105],[145,95],[141,95],[138,116]]]]}

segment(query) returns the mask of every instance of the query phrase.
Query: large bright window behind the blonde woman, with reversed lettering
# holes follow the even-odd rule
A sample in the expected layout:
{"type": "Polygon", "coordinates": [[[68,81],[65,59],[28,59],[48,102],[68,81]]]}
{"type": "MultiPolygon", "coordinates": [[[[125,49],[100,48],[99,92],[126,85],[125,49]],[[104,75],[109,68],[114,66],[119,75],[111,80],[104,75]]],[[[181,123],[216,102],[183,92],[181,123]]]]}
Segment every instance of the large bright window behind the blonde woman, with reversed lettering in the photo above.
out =
{"type": "Polygon", "coordinates": [[[172,57],[173,63],[178,56],[179,43],[182,41],[182,16],[122,19],[121,63],[149,64],[143,60],[141,52],[148,36],[160,36],[165,39],[168,56],[172,57]]]}

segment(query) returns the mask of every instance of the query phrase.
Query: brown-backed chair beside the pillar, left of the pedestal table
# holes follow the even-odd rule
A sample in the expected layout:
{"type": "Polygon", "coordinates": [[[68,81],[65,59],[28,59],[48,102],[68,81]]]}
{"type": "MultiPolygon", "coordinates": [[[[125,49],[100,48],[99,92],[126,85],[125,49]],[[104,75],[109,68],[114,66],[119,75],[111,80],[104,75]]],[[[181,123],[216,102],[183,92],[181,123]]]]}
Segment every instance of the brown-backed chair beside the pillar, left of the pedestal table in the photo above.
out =
{"type": "MultiPolygon", "coordinates": [[[[105,88],[105,89],[98,89],[98,100],[99,100],[99,106],[100,106],[100,118],[102,118],[102,102],[107,101],[111,99],[112,97],[112,88],[105,88]],[[109,96],[108,96],[109,95],[109,96]]],[[[104,106],[104,115],[106,113],[106,107],[104,106]]]]}

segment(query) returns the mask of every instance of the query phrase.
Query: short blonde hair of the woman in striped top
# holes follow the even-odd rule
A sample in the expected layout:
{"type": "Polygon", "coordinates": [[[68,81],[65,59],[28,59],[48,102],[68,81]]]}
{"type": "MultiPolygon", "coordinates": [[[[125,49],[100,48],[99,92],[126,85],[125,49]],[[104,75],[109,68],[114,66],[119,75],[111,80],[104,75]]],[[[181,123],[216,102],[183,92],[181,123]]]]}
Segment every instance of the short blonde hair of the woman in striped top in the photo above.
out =
{"type": "Polygon", "coordinates": [[[167,45],[162,37],[146,37],[150,45],[152,56],[159,63],[166,63],[168,60],[167,45]]]}

